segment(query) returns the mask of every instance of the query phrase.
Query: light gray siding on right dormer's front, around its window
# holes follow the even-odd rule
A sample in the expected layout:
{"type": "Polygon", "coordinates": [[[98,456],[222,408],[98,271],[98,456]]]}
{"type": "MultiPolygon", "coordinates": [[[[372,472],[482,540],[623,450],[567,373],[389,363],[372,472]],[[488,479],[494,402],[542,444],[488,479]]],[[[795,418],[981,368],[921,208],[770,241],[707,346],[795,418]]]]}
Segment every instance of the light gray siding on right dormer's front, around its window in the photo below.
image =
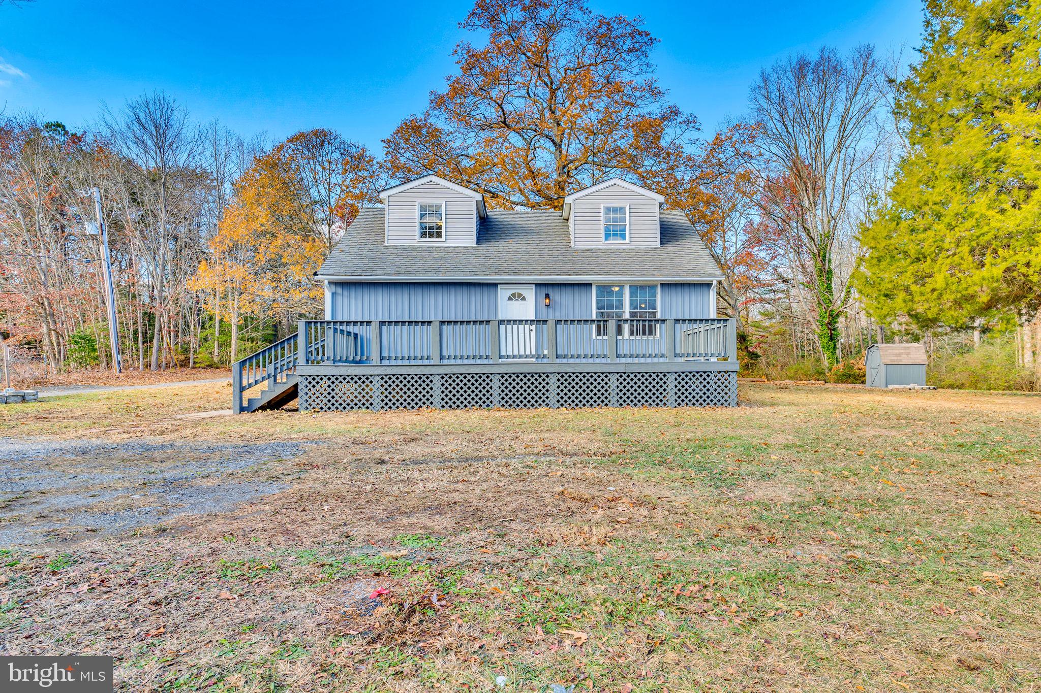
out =
{"type": "MultiPolygon", "coordinates": [[[[604,205],[629,205],[630,247],[652,247],[661,244],[658,202],[609,185],[603,190],[579,197],[572,204],[569,225],[575,247],[604,246],[604,205]]],[[[613,244],[608,244],[608,247],[613,244]]]]}

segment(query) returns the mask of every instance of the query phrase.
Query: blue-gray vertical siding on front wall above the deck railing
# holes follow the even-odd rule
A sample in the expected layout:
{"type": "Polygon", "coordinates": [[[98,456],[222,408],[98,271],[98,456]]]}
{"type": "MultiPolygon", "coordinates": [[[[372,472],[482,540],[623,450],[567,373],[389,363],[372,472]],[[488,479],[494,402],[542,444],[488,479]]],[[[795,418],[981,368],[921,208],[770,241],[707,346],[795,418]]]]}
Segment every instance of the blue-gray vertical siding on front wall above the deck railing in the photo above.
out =
{"type": "MultiPolygon", "coordinates": [[[[328,320],[493,320],[499,314],[496,284],[330,282],[328,287],[328,320]]],[[[661,318],[713,317],[710,283],[662,284],[659,292],[661,318]]],[[[592,314],[592,285],[535,285],[536,319],[582,320],[592,314]]]]}

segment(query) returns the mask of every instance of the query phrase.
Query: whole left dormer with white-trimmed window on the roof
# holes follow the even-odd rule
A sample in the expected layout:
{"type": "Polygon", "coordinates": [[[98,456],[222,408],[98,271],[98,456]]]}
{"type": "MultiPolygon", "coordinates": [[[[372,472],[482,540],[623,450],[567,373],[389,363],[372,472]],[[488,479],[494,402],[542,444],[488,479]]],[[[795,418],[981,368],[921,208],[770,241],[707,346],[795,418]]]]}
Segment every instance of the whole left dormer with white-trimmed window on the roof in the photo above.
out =
{"type": "Polygon", "coordinates": [[[387,245],[477,245],[484,195],[439,176],[380,191],[387,245]]]}

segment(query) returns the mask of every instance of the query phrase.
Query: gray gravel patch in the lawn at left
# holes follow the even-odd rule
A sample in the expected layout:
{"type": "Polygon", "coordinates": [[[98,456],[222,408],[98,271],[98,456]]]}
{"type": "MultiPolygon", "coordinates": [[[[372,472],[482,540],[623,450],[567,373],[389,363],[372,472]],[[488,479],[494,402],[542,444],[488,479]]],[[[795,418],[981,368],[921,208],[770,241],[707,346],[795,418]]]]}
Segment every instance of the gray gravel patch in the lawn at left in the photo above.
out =
{"type": "Polygon", "coordinates": [[[0,438],[0,548],[232,510],[286,487],[247,472],[306,445],[0,438]]]}

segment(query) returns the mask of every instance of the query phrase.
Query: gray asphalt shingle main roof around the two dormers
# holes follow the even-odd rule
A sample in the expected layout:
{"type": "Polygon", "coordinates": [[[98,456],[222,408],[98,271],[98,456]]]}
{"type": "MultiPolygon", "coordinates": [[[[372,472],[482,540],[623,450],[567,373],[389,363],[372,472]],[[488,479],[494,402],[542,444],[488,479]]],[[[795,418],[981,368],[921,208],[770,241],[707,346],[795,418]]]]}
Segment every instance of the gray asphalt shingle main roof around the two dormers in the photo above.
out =
{"type": "Polygon", "coordinates": [[[661,212],[659,247],[573,248],[553,210],[488,210],[477,245],[384,245],[383,209],[364,209],[320,277],[722,278],[683,212],[661,212]]]}

